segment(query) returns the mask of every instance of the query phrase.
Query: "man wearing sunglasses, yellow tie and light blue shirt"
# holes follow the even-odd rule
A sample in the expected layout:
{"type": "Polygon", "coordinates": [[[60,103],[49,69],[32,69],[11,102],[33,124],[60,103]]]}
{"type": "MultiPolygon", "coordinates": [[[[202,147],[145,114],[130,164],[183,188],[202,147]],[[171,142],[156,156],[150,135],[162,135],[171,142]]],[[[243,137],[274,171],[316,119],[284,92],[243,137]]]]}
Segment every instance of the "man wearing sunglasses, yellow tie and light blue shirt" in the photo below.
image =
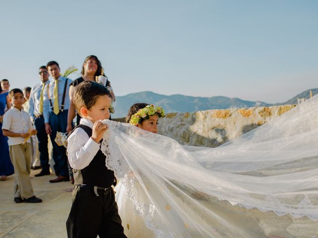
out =
{"type": "Polygon", "coordinates": [[[30,92],[29,98],[29,114],[34,119],[34,125],[37,129],[37,137],[39,141],[41,172],[35,177],[41,177],[50,174],[49,152],[48,152],[48,135],[45,131],[45,123],[43,117],[43,102],[45,86],[49,83],[49,73],[46,66],[39,68],[39,76],[41,82],[34,85],[30,92]]]}

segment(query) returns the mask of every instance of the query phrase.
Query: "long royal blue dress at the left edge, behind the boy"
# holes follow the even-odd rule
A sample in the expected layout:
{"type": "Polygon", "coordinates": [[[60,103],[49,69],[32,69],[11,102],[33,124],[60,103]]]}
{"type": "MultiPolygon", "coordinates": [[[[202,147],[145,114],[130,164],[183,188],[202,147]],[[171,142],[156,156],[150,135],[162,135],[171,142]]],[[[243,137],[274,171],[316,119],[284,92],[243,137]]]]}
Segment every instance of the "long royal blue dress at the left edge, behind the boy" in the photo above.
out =
{"type": "MultiPolygon", "coordinates": [[[[0,94],[0,115],[4,114],[6,95],[8,95],[8,93],[0,94]]],[[[8,138],[2,134],[2,122],[0,122],[0,176],[9,176],[13,173],[14,170],[9,155],[8,138]]]]}

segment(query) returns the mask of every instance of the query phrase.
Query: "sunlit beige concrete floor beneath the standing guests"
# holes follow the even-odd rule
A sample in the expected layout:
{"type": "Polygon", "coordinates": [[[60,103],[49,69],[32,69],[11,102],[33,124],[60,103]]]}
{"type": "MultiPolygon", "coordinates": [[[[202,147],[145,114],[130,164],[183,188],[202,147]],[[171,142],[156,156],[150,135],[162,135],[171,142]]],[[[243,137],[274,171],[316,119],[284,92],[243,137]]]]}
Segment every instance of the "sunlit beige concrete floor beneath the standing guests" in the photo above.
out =
{"type": "Polygon", "coordinates": [[[71,182],[50,183],[55,175],[35,178],[40,170],[31,170],[34,193],[42,203],[15,203],[13,180],[0,181],[0,238],[66,238],[65,222],[72,205],[71,182]]]}

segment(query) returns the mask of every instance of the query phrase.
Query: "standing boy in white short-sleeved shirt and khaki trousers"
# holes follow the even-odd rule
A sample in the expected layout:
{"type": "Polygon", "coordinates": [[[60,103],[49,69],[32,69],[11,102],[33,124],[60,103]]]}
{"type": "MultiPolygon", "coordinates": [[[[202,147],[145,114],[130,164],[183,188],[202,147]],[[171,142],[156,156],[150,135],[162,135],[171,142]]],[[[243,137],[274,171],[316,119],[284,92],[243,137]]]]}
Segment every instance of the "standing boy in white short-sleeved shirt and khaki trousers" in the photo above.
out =
{"type": "Polygon", "coordinates": [[[14,201],[39,203],[42,200],[34,196],[29,176],[32,161],[29,137],[36,135],[37,130],[33,128],[29,114],[23,111],[23,92],[15,88],[8,96],[13,107],[4,114],[2,131],[3,135],[8,137],[10,158],[14,167],[14,201]]]}

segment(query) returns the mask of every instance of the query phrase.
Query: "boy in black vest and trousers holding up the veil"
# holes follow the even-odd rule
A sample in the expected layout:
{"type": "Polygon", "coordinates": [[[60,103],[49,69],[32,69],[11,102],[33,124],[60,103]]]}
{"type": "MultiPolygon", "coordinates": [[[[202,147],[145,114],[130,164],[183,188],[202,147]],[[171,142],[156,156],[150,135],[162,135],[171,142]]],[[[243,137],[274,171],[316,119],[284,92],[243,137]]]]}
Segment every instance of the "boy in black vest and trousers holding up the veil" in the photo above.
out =
{"type": "Polygon", "coordinates": [[[75,89],[74,104],[80,124],[68,138],[68,158],[75,179],[72,208],[66,222],[69,238],[127,238],[118,215],[111,185],[114,172],[105,166],[100,146],[109,119],[111,95],[105,86],[81,82],[75,89]]]}

